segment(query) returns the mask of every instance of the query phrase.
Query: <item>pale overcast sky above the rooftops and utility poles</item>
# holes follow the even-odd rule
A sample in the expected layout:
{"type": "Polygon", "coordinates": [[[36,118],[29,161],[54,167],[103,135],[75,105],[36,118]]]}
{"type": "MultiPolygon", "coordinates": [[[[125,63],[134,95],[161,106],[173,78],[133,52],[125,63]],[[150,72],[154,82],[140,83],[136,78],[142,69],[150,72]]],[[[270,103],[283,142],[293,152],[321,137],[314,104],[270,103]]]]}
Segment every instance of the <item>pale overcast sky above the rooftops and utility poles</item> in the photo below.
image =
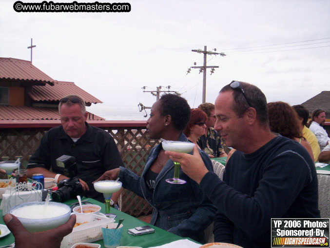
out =
{"type": "Polygon", "coordinates": [[[330,0],[122,1],[129,13],[17,13],[14,2],[0,1],[0,57],[30,60],[33,38],[35,66],[107,105],[151,105],[142,86],[171,85],[197,107],[203,73],[186,71],[203,64],[191,50],[204,45],[227,54],[207,57],[219,66],[207,71],[207,102],[232,80],[257,85],[268,102],[299,104],[330,90],[330,0]],[[246,47],[255,48],[235,49],[246,47]]]}

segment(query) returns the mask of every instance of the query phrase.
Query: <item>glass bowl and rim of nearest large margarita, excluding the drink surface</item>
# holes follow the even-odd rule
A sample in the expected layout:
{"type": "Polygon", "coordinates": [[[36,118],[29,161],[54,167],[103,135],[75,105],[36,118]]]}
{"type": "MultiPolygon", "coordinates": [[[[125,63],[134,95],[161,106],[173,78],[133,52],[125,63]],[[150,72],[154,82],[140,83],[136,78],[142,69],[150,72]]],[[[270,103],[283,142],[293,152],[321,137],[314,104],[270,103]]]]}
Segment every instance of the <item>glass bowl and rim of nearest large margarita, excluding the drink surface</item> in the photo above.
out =
{"type": "MultiPolygon", "coordinates": [[[[58,227],[69,220],[70,214],[71,214],[71,208],[69,206],[62,204],[62,203],[56,203],[56,202],[49,202],[48,204],[49,204],[49,206],[53,206],[56,208],[59,208],[59,207],[64,208],[63,209],[64,214],[61,214],[56,217],[43,218],[43,219],[27,219],[27,218],[23,218],[21,216],[16,216],[15,214],[13,214],[13,211],[18,208],[37,206],[37,205],[44,206],[45,202],[23,203],[16,207],[10,208],[9,213],[15,215],[19,219],[19,221],[22,223],[23,227],[25,227],[30,232],[49,230],[49,229],[58,227]]],[[[40,213],[40,214],[42,214],[42,213],[40,213]]]]}

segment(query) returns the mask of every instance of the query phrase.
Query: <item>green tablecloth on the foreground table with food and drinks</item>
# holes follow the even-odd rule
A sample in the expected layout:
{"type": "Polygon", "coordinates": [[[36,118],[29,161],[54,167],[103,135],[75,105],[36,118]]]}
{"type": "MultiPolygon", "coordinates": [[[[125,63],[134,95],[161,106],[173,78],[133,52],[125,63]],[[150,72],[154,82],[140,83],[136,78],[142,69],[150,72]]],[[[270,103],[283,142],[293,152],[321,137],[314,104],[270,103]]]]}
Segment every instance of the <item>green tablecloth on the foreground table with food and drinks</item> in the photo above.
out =
{"type": "MultiPolygon", "coordinates": [[[[101,213],[105,212],[105,206],[104,204],[94,200],[87,198],[88,201],[92,204],[97,204],[102,207],[101,213]]],[[[84,200],[84,199],[83,199],[84,200]]],[[[65,202],[65,204],[70,204],[77,202],[77,200],[69,200],[65,202]]],[[[1,211],[1,210],[0,210],[1,211]]],[[[168,231],[165,231],[163,229],[160,229],[158,227],[154,227],[152,225],[146,224],[143,221],[140,221],[126,213],[123,213],[121,211],[118,211],[114,208],[111,208],[111,212],[116,214],[115,222],[118,222],[118,219],[125,219],[123,222],[123,231],[120,239],[120,245],[121,246],[138,246],[142,248],[149,248],[149,247],[154,247],[154,246],[160,246],[164,245],[179,239],[184,239],[180,236],[177,236],[173,233],[170,233],[168,231]],[[145,226],[149,225],[155,229],[155,233],[150,233],[150,234],[145,234],[145,235],[140,235],[140,236],[133,236],[129,235],[127,233],[127,229],[134,228],[134,227],[139,227],[139,226],[145,226]]],[[[0,224],[4,224],[3,219],[2,219],[2,211],[1,211],[1,218],[0,218],[0,224]]],[[[8,234],[5,237],[0,238],[0,246],[4,245],[9,245],[14,242],[14,236],[12,233],[8,234]]],[[[100,244],[101,248],[104,248],[103,240],[99,240],[94,242],[96,244],[100,244]]]]}

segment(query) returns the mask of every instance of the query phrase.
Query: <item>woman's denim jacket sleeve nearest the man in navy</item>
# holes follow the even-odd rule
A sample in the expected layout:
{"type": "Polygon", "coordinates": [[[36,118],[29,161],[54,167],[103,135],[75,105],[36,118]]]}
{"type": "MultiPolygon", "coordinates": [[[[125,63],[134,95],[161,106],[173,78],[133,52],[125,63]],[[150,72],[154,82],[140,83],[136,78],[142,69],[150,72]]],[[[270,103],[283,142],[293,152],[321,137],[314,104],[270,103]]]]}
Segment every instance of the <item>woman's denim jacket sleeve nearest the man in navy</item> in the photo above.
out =
{"type": "MultiPolygon", "coordinates": [[[[207,169],[213,171],[212,162],[209,156],[204,151],[199,151],[199,154],[201,155],[207,169]]],[[[199,185],[193,180],[190,181],[190,184],[194,188],[196,198],[201,199],[198,208],[189,219],[182,221],[178,226],[172,227],[168,230],[181,237],[200,235],[205,230],[205,228],[214,221],[216,212],[216,207],[201,191],[199,185]]]]}

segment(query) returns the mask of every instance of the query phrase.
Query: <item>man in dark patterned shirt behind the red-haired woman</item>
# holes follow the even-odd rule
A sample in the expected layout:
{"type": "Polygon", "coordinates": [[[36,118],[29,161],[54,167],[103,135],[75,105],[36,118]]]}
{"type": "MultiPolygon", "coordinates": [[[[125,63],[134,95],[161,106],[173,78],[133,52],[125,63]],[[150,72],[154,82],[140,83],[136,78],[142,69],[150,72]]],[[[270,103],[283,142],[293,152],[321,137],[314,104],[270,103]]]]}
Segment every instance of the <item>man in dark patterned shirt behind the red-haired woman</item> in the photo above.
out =
{"type": "Polygon", "coordinates": [[[207,115],[206,132],[203,136],[200,136],[197,145],[209,154],[210,158],[227,157],[224,152],[220,136],[217,131],[214,130],[215,115],[214,115],[214,104],[213,103],[201,103],[198,108],[203,110],[207,115]]]}

